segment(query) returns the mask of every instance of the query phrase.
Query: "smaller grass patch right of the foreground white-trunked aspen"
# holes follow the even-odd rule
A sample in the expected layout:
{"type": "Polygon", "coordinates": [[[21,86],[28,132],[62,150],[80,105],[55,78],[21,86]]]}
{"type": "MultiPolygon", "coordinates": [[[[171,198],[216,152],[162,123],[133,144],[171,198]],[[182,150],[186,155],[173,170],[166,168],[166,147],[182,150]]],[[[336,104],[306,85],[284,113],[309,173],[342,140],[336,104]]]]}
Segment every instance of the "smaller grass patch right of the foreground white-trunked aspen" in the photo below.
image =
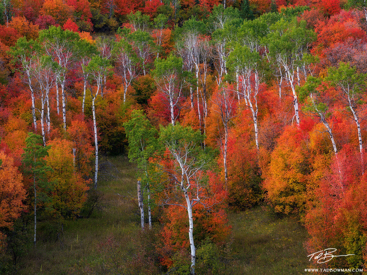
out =
{"type": "Polygon", "coordinates": [[[295,219],[278,219],[257,207],[246,212],[229,213],[232,225],[236,274],[304,274],[308,258],[303,243],[304,227],[295,219]]]}

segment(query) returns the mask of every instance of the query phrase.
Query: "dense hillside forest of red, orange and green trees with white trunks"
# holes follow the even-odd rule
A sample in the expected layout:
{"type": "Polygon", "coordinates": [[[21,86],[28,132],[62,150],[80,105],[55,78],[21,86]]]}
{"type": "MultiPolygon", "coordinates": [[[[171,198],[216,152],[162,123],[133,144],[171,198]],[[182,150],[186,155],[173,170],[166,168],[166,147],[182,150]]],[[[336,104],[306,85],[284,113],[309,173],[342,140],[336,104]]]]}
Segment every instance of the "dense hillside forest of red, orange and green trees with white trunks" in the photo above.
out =
{"type": "MultiPolygon", "coordinates": [[[[366,268],[365,1],[0,11],[0,273],[21,272],[45,224],[66,249],[64,225],[101,215],[101,186],[127,177],[117,155],[136,169],[136,229],[155,240],[134,274],[231,274],[228,215],[257,205],[306,228],[305,257],[335,247],[353,255],[322,266],[366,268]]],[[[129,274],[134,260],[107,262],[129,274]]]]}

